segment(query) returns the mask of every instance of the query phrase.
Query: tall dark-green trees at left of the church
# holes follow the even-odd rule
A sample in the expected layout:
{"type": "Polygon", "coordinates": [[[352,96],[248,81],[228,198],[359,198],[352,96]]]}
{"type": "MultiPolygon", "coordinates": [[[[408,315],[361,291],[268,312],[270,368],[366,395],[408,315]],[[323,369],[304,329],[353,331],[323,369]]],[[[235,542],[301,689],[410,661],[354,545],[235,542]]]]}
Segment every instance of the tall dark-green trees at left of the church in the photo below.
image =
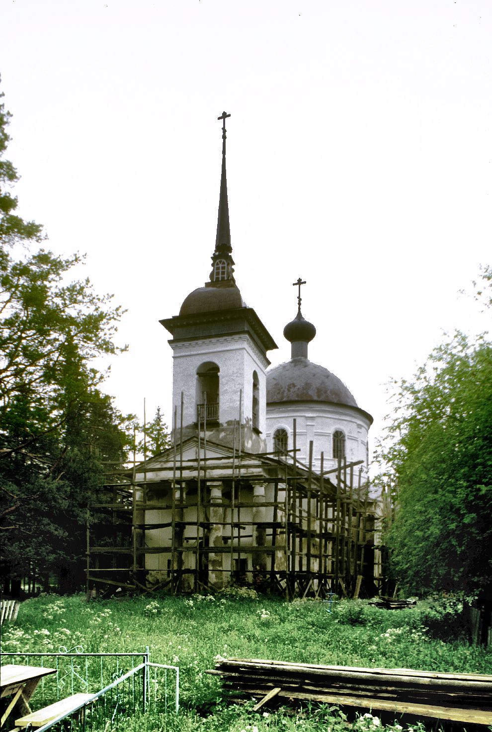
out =
{"type": "Polygon", "coordinates": [[[89,494],[103,462],[120,464],[122,418],[98,386],[96,356],[114,355],[120,307],[89,280],[69,282],[81,262],[43,248],[41,227],[15,214],[5,187],[17,172],[4,160],[10,113],[0,104],[0,528],[10,578],[56,575],[62,591],[80,583],[89,494]]]}

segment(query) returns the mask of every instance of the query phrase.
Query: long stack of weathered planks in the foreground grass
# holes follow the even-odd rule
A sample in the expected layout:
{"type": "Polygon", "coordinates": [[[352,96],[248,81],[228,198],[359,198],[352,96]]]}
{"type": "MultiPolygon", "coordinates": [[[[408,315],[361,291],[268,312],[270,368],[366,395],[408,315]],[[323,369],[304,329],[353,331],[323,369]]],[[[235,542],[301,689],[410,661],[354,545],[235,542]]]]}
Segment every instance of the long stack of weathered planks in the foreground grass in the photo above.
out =
{"type": "Polygon", "coordinates": [[[241,658],[221,659],[206,673],[220,676],[236,700],[258,698],[256,710],[275,698],[492,724],[492,676],[241,658]]]}

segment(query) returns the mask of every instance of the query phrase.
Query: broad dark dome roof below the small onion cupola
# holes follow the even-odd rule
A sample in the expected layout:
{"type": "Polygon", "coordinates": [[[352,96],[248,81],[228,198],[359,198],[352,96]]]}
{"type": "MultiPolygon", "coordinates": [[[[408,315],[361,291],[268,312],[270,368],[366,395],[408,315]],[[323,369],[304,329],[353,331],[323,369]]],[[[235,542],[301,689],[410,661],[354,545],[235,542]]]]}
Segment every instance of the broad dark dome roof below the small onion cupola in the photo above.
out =
{"type": "Polygon", "coordinates": [[[266,372],[266,403],[279,402],[332,402],[357,407],[338,376],[306,358],[291,359],[266,372]]]}

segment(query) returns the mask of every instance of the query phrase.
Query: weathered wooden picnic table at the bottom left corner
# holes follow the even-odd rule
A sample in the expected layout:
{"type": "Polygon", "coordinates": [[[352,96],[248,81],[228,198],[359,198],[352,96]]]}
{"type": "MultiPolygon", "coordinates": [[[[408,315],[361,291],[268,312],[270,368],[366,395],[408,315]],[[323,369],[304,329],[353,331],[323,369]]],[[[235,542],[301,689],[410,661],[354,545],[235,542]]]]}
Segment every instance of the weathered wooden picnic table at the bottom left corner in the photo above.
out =
{"type": "Polygon", "coordinates": [[[3,709],[0,727],[7,722],[7,717],[15,709],[16,715],[31,714],[29,700],[34,694],[37,684],[43,676],[56,673],[56,668],[42,668],[41,666],[21,666],[9,664],[0,668],[0,698],[5,698],[7,706],[3,709]],[[12,697],[12,698],[10,698],[12,697]]]}

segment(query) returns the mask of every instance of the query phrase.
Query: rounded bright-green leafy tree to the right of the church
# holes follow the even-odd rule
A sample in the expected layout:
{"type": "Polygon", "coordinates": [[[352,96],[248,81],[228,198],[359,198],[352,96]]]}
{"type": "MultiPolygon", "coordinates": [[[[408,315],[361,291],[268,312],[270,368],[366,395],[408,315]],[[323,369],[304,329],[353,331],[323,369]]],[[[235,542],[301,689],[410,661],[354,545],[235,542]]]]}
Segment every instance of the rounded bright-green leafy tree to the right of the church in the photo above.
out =
{"type": "MultiPolygon", "coordinates": [[[[487,305],[491,269],[480,297],[487,305]]],[[[379,451],[396,502],[385,540],[406,591],[473,594],[492,571],[492,343],[456,332],[395,383],[379,451]]]]}

